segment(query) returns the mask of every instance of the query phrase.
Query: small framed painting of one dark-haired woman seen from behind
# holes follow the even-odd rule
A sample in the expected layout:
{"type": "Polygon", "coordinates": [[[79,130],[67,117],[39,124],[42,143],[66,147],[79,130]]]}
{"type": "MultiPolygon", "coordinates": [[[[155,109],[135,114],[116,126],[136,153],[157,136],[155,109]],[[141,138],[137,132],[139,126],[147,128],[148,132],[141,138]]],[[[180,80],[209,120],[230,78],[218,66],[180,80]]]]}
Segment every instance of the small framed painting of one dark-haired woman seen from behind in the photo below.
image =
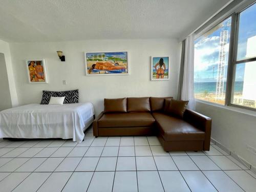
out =
{"type": "Polygon", "coordinates": [[[169,80],[169,56],[151,57],[151,80],[169,80]]]}

